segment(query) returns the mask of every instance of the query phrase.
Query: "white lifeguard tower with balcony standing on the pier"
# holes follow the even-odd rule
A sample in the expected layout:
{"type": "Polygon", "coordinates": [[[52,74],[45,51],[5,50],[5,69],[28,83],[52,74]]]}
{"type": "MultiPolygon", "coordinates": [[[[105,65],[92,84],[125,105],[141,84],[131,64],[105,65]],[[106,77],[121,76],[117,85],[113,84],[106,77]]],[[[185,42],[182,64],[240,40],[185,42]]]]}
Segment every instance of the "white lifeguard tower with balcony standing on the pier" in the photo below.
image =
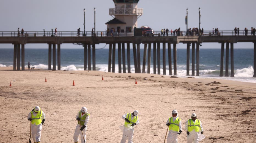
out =
{"type": "Polygon", "coordinates": [[[142,15],[143,9],[137,8],[139,0],[113,0],[115,8],[109,8],[109,15],[114,19],[109,20],[107,29],[108,36],[111,36],[111,29],[114,36],[132,36],[134,27],[137,27],[137,19],[142,15]]]}

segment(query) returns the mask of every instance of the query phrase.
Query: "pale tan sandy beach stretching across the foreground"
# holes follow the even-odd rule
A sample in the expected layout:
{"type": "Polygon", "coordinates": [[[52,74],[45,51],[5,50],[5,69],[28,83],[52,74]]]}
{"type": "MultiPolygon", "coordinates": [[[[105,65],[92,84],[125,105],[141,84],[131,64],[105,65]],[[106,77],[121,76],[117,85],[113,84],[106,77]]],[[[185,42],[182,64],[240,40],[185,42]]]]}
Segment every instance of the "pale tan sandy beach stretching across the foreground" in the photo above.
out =
{"type": "Polygon", "coordinates": [[[254,83],[153,74],[0,69],[0,142],[28,142],[27,115],[37,105],[46,114],[41,142],[47,143],[73,142],[76,114],[82,106],[91,114],[88,143],[120,142],[121,116],[135,109],[140,112],[140,125],[135,128],[134,143],[163,142],[165,123],[173,109],[182,119],[179,142],[187,141],[184,126],[192,112],[202,121],[206,136],[202,142],[256,139],[254,83]],[[44,82],[45,77],[48,82],[44,82]]]}

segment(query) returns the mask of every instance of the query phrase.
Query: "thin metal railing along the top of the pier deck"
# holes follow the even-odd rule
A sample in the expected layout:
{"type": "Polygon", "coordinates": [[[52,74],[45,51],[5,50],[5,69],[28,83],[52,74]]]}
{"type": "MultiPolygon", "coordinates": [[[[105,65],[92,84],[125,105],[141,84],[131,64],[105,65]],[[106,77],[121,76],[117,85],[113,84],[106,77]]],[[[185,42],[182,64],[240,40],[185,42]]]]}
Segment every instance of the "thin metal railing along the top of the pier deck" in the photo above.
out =
{"type": "MultiPolygon", "coordinates": [[[[82,37],[84,35],[84,32],[80,32],[80,34],[77,33],[77,31],[58,31],[56,34],[52,31],[25,31],[23,34],[18,34],[18,31],[0,31],[0,37],[82,37]]],[[[85,35],[87,37],[94,36],[94,34],[91,31],[85,31],[85,35]]],[[[97,37],[106,37],[106,36],[112,36],[110,32],[107,31],[96,31],[95,36],[97,37]]],[[[114,32],[114,37],[120,36],[133,36],[133,32],[114,32]]],[[[163,36],[161,35],[161,31],[154,31],[154,36],[163,36]]],[[[164,36],[167,36],[165,33],[164,36]]],[[[196,32],[189,32],[189,34],[186,33],[186,31],[178,31],[178,32],[168,32],[168,36],[198,36],[196,32]]],[[[245,36],[245,31],[239,31],[235,34],[235,31],[233,30],[222,30],[218,31],[217,33],[213,31],[204,31],[201,36],[245,36]]],[[[248,32],[247,36],[253,36],[251,35],[251,31],[248,32]]]]}

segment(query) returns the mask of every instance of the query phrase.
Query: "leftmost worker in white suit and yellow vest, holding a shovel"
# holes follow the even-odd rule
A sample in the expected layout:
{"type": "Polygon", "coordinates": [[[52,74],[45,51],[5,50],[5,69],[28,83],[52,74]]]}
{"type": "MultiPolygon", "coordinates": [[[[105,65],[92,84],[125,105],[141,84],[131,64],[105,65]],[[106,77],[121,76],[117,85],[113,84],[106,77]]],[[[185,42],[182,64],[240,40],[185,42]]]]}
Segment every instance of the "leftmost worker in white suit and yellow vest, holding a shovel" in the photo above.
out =
{"type": "Polygon", "coordinates": [[[45,121],[44,112],[39,106],[35,106],[35,108],[27,115],[27,120],[31,122],[31,136],[34,142],[40,143],[42,125],[45,121]]]}

